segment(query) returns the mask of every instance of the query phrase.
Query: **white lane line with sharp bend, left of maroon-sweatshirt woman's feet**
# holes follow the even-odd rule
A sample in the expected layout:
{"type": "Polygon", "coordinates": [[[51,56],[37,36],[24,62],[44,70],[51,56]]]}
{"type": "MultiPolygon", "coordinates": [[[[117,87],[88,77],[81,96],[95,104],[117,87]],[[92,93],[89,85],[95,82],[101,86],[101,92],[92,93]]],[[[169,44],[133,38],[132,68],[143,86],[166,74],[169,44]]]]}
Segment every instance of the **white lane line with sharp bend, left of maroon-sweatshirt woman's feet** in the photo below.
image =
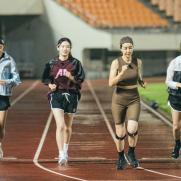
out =
{"type": "MultiPolygon", "coordinates": [[[[52,118],[53,118],[53,114],[52,112],[50,112],[49,114],[49,117],[48,117],[48,120],[47,120],[47,123],[45,125],[45,129],[43,131],[43,134],[42,134],[42,137],[41,137],[41,140],[39,142],[39,145],[38,145],[38,148],[36,150],[36,153],[35,153],[35,156],[33,158],[33,163],[40,169],[42,170],[45,170],[47,172],[50,172],[50,173],[53,173],[53,174],[56,174],[56,175],[59,175],[59,176],[62,176],[62,177],[66,177],[66,178],[70,178],[70,179],[73,179],[73,180],[79,180],[79,181],[88,181],[88,180],[84,180],[84,179],[81,179],[81,178],[78,178],[78,177],[72,177],[72,176],[69,176],[69,175],[65,175],[65,174],[61,174],[59,172],[56,172],[56,171],[53,171],[49,168],[46,168],[44,167],[43,165],[41,165],[39,162],[38,162],[38,158],[40,156],[40,152],[42,150],[42,147],[43,147],[43,144],[45,142],[45,139],[46,139],[46,136],[47,136],[47,133],[48,133],[48,129],[50,127],[50,123],[52,121],[52,118]]],[[[58,163],[57,163],[58,164],[58,163]]]]}

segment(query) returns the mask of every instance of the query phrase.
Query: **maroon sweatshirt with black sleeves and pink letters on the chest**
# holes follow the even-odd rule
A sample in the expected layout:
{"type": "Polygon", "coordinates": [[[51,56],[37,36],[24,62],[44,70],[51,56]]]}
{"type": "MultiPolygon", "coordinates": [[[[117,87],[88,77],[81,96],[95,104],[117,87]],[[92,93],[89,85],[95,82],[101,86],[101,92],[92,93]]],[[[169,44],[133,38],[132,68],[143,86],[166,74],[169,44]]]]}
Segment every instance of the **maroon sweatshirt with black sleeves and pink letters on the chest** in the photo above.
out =
{"type": "Polygon", "coordinates": [[[81,84],[85,79],[85,73],[81,62],[76,58],[69,58],[68,60],[61,61],[58,58],[50,60],[46,65],[42,75],[42,82],[45,85],[56,84],[57,90],[74,90],[78,91],[81,89],[81,84]],[[74,81],[64,76],[64,72],[71,72],[74,76],[74,81]]]}

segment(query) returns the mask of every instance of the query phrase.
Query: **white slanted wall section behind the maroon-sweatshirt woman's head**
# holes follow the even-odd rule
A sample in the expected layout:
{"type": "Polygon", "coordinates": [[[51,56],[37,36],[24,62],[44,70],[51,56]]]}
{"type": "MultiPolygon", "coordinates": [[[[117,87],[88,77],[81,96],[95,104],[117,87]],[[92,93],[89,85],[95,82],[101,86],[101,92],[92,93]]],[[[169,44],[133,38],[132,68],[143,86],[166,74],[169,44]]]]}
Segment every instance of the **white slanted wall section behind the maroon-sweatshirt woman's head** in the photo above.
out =
{"type": "Polygon", "coordinates": [[[95,29],[61,7],[56,1],[44,1],[49,24],[53,29],[55,43],[63,36],[73,43],[72,54],[82,60],[86,48],[111,48],[111,35],[95,29]]]}

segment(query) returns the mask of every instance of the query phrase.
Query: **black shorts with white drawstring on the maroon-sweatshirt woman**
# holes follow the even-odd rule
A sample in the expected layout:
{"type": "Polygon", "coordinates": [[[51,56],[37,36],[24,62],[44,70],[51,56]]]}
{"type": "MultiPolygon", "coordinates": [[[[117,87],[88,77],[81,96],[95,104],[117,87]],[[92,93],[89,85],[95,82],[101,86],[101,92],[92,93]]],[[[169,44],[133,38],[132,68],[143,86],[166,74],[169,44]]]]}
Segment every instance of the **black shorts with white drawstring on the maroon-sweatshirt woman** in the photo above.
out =
{"type": "Polygon", "coordinates": [[[51,108],[64,110],[65,113],[77,111],[79,97],[77,93],[55,91],[49,94],[51,108]]]}

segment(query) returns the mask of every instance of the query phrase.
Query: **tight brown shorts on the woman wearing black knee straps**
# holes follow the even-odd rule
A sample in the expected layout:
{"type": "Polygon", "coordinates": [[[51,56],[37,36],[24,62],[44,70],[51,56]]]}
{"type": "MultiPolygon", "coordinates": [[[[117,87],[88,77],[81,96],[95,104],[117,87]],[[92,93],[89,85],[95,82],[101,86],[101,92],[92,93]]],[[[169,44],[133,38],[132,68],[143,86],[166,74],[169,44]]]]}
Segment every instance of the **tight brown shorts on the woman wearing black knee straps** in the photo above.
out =
{"type": "Polygon", "coordinates": [[[140,96],[137,88],[115,89],[112,96],[112,115],[115,124],[122,124],[125,120],[138,121],[140,109],[140,96]]]}

